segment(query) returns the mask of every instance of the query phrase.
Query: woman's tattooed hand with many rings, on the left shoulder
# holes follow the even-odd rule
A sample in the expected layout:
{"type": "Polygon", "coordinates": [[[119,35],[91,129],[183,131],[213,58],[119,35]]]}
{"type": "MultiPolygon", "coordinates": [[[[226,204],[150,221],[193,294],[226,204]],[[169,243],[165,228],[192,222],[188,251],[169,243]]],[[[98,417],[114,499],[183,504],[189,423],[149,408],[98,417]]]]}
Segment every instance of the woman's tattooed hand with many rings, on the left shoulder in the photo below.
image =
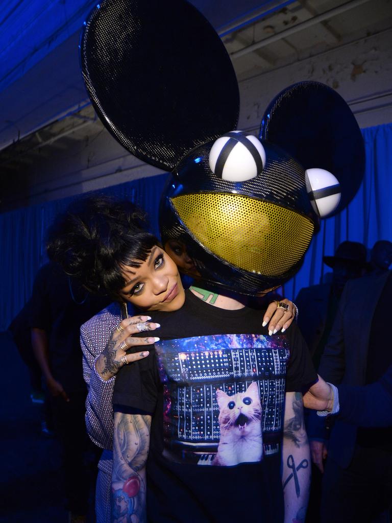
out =
{"type": "Polygon", "coordinates": [[[152,345],[159,340],[155,337],[133,337],[136,333],[154,331],[160,327],[159,323],[152,323],[149,320],[151,320],[149,316],[132,316],[122,320],[114,329],[105,349],[95,362],[95,368],[102,380],[110,380],[127,363],[148,356],[148,350],[135,354],[126,354],[126,350],[132,346],[152,345]]]}

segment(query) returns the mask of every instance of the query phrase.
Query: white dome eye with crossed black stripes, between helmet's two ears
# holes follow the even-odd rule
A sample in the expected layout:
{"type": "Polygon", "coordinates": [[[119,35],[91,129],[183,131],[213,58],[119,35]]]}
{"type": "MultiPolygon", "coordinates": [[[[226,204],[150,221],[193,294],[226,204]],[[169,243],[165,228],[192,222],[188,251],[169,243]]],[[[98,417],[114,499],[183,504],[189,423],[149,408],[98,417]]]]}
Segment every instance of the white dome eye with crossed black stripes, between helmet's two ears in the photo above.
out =
{"type": "Polygon", "coordinates": [[[232,131],[218,138],[209,157],[212,172],[227,181],[255,178],[266,165],[266,151],[252,134],[232,131]]]}

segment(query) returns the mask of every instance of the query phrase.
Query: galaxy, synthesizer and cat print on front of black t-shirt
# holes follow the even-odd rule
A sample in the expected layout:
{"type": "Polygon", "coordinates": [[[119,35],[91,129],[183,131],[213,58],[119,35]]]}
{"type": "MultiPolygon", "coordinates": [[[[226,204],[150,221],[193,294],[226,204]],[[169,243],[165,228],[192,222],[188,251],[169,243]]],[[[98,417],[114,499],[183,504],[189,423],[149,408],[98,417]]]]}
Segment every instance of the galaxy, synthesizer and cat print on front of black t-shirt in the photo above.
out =
{"type": "Polygon", "coordinates": [[[285,336],[225,334],[161,340],[164,456],[232,466],[279,452],[285,336]]]}

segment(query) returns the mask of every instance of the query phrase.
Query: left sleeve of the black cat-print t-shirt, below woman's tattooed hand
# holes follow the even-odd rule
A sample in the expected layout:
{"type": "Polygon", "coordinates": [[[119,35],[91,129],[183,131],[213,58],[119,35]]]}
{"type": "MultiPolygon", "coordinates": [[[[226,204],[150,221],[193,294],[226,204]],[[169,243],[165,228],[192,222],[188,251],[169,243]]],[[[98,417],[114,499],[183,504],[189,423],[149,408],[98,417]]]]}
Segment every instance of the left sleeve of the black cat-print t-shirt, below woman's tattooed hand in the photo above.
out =
{"type": "MultiPolygon", "coordinates": [[[[134,347],[133,352],[145,347],[134,347]]],[[[122,367],[117,373],[113,391],[115,412],[153,414],[158,397],[159,376],[155,350],[149,355],[122,367]]]]}

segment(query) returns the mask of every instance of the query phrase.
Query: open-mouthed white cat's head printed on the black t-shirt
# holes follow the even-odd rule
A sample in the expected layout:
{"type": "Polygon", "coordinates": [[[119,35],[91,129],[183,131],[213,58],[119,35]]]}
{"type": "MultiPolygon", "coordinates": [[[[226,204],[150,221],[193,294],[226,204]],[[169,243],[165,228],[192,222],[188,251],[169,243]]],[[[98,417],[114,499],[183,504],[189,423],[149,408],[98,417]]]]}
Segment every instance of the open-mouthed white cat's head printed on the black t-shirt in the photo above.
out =
{"type": "Polygon", "coordinates": [[[244,431],[251,422],[260,422],[261,404],[256,382],[251,383],[245,392],[232,396],[222,390],[217,390],[216,401],[220,408],[221,432],[228,428],[244,431]]]}

